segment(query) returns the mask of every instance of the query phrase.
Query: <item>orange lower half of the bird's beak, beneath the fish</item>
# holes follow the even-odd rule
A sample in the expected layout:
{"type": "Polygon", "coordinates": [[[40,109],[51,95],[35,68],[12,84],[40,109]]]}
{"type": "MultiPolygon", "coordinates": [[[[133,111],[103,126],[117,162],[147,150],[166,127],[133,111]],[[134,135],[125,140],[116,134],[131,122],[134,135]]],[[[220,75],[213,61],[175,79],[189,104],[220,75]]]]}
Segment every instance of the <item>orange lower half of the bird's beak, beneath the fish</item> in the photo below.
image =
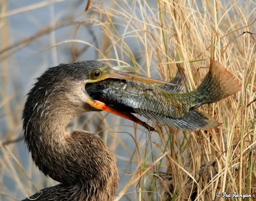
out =
{"type": "Polygon", "coordinates": [[[148,129],[149,131],[154,131],[155,129],[149,125],[147,125],[147,123],[141,121],[140,119],[138,119],[137,117],[135,117],[134,115],[130,114],[130,113],[123,113],[123,112],[119,112],[113,108],[110,108],[109,106],[107,106],[105,103],[100,102],[99,100],[93,100],[89,97],[89,99],[87,100],[87,103],[98,110],[104,110],[106,112],[112,113],[114,115],[123,117],[125,119],[131,120],[143,127],[145,127],[146,129],[148,129]]]}

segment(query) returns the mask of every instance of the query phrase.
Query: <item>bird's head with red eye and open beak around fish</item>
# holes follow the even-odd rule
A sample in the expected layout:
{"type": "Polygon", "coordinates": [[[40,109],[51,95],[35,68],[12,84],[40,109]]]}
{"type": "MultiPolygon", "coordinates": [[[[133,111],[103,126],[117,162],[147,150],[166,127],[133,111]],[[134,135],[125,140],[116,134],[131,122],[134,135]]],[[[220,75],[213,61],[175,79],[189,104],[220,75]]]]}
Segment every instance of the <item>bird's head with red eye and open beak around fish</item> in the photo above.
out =
{"type": "MultiPolygon", "coordinates": [[[[156,84],[169,84],[164,81],[144,77],[130,66],[110,67],[100,61],[79,61],[60,64],[46,70],[28,93],[26,108],[39,105],[59,110],[62,114],[75,116],[86,111],[107,111],[115,115],[137,121],[134,116],[112,109],[104,103],[94,100],[85,90],[87,83],[99,82],[107,78],[128,79],[156,84]],[[57,106],[58,105],[58,106],[57,106]],[[58,108],[56,108],[58,107],[58,108]]],[[[25,106],[26,106],[25,105],[25,106]]],[[[42,109],[45,111],[46,109],[42,109]]],[[[31,114],[33,111],[31,111],[31,114]]],[[[55,112],[56,113],[56,112],[55,112]]],[[[136,122],[137,123],[137,122],[136,122]]]]}

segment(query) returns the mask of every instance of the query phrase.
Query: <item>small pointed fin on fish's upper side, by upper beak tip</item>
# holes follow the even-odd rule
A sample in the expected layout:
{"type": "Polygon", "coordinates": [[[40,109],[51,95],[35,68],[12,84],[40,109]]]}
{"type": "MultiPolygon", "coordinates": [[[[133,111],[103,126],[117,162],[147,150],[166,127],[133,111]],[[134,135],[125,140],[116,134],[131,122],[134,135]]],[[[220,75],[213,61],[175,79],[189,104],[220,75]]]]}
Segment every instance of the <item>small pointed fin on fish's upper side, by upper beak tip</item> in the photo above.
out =
{"type": "Polygon", "coordinates": [[[175,77],[170,81],[171,84],[176,84],[177,86],[159,85],[159,88],[173,92],[180,93],[184,89],[184,73],[180,64],[177,64],[178,72],[175,77]]]}

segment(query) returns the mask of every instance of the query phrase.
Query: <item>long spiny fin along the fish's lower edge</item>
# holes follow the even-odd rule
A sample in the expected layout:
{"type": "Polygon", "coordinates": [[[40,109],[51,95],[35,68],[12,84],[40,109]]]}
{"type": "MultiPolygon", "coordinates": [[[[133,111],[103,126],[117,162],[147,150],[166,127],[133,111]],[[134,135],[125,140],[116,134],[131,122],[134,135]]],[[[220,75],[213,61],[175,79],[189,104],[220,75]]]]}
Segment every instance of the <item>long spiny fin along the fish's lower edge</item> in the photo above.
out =
{"type": "Polygon", "coordinates": [[[220,123],[208,114],[198,111],[191,111],[186,116],[177,119],[141,109],[135,109],[135,111],[154,122],[183,131],[208,130],[220,125],[220,123]]]}

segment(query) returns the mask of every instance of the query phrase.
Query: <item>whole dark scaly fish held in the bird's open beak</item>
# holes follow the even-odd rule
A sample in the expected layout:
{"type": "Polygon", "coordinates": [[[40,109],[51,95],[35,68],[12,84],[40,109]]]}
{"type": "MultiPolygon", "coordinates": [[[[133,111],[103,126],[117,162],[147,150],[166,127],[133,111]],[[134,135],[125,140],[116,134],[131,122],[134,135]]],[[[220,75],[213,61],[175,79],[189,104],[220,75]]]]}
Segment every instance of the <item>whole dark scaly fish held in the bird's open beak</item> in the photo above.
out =
{"type": "Polygon", "coordinates": [[[179,72],[171,83],[176,86],[108,78],[86,84],[85,89],[93,99],[116,110],[136,113],[155,123],[191,132],[221,125],[209,114],[197,111],[198,107],[218,102],[241,90],[238,79],[213,59],[196,90],[181,93],[183,79],[179,72]]]}

